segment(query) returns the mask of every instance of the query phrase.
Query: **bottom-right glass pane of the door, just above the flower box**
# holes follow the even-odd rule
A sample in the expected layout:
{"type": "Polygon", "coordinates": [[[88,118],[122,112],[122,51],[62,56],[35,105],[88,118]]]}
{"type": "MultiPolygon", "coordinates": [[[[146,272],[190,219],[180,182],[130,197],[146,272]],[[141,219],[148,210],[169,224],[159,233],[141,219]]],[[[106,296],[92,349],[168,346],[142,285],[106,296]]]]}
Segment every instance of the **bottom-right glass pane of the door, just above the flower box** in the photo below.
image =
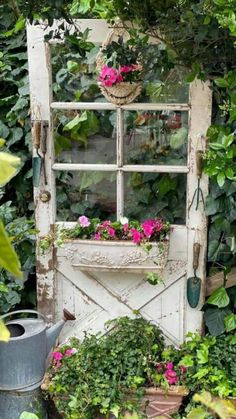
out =
{"type": "Polygon", "coordinates": [[[185,224],[185,174],[125,173],[125,211],[140,221],[163,217],[172,224],[185,224]]]}

